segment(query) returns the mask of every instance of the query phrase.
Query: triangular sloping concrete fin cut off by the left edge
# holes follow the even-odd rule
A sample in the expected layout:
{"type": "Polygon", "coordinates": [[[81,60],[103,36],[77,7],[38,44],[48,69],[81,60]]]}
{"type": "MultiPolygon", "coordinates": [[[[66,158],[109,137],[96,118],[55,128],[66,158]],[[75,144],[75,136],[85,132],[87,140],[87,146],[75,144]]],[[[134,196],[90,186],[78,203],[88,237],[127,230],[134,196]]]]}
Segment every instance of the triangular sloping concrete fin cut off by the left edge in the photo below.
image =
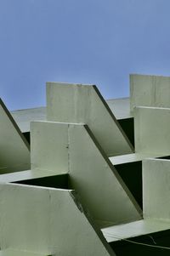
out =
{"type": "Polygon", "coordinates": [[[30,147],[0,100],[0,174],[18,172],[30,168],[30,147]]]}

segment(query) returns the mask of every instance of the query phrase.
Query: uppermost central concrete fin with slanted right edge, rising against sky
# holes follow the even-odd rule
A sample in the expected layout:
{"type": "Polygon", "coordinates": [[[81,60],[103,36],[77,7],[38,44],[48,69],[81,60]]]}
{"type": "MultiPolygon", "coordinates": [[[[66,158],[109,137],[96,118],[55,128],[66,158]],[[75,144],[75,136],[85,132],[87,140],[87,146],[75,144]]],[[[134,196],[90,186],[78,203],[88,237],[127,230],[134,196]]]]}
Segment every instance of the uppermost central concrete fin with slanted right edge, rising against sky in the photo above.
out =
{"type": "Polygon", "coordinates": [[[47,82],[47,119],[88,124],[107,156],[133,152],[133,146],[96,86],[47,82]]]}

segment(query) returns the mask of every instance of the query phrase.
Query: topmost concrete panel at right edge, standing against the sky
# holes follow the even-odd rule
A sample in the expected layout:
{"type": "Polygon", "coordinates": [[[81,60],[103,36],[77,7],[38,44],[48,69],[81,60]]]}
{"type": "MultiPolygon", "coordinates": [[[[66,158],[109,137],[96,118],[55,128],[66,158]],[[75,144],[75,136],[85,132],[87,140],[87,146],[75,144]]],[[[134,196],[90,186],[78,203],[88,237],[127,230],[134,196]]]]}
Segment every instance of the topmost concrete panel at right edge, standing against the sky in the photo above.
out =
{"type": "Polygon", "coordinates": [[[170,107],[170,77],[130,75],[130,108],[170,107]]]}

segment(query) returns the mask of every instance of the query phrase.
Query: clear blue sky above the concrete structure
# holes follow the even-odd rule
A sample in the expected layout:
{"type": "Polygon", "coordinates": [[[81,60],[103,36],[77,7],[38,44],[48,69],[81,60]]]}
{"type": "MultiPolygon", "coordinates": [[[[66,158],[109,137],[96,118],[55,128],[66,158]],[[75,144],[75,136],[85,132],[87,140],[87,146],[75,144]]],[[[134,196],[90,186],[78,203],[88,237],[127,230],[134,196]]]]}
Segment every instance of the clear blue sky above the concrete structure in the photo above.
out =
{"type": "Polygon", "coordinates": [[[45,82],[129,95],[129,73],[170,76],[169,0],[0,0],[0,96],[45,105],[45,82]]]}

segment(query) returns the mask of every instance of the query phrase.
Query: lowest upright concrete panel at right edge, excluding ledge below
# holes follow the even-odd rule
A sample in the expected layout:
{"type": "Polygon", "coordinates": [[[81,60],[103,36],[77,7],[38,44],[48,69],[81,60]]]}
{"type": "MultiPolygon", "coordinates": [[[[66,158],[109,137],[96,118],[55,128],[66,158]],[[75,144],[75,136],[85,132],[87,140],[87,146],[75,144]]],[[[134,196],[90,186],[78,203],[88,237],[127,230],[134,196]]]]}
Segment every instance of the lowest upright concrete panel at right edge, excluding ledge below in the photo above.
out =
{"type": "Polygon", "coordinates": [[[170,161],[146,159],[143,161],[144,219],[170,221],[170,161]]]}

